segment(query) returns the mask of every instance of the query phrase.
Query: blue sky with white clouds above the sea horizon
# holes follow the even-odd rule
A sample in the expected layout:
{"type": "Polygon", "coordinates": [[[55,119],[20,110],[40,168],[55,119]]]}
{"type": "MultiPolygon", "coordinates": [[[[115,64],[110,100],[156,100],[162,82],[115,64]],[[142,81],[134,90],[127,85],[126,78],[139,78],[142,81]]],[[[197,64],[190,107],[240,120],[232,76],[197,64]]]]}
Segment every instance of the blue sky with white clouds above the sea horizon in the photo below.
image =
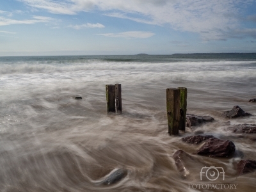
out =
{"type": "Polygon", "coordinates": [[[0,0],[0,56],[256,52],[256,0],[0,0]]]}

